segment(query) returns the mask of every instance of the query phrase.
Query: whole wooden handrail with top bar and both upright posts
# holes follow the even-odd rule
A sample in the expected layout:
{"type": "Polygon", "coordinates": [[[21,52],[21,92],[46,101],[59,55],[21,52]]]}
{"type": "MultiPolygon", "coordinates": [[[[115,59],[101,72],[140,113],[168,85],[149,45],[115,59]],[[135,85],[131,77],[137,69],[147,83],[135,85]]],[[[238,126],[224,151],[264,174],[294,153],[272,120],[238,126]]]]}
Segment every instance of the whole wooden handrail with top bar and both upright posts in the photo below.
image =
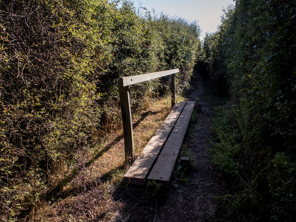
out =
{"type": "Polygon", "coordinates": [[[123,136],[124,136],[124,151],[126,161],[132,163],[135,157],[135,145],[133,141],[133,123],[131,119],[131,103],[129,99],[128,86],[141,83],[144,81],[152,80],[155,78],[163,77],[166,75],[171,75],[171,94],[172,94],[172,107],[176,103],[176,78],[175,73],[178,73],[179,69],[165,70],[156,73],[147,73],[142,75],[133,75],[118,80],[119,89],[119,100],[123,124],[123,136]]]}

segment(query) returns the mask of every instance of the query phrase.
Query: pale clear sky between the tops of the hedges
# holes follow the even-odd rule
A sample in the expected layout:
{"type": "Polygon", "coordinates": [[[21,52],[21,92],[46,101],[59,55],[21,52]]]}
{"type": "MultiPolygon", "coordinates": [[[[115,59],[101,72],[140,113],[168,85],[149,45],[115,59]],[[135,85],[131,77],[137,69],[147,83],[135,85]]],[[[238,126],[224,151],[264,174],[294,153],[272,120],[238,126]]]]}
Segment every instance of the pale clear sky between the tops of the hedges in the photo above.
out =
{"type": "MultiPolygon", "coordinates": [[[[202,40],[206,32],[215,32],[223,15],[223,7],[235,4],[233,0],[140,0],[141,7],[156,13],[164,12],[170,16],[182,17],[189,22],[198,21],[202,40]]],[[[134,6],[139,7],[139,1],[134,0],[134,6]]]]}

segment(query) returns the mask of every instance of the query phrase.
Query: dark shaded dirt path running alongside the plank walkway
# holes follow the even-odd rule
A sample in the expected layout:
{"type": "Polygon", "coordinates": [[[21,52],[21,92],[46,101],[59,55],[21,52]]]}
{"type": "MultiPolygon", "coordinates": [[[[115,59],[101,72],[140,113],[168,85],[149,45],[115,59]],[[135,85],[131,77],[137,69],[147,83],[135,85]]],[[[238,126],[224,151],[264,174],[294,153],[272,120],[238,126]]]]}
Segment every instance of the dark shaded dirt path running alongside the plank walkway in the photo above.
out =
{"type": "Polygon", "coordinates": [[[207,157],[209,140],[213,138],[210,131],[213,110],[202,99],[204,76],[194,75],[191,84],[188,99],[198,98],[202,104],[202,112],[197,114],[184,142],[193,157],[191,168],[185,177],[176,175],[168,189],[121,184],[113,194],[121,207],[111,221],[215,221],[218,207],[215,196],[223,193],[223,184],[207,157]]]}

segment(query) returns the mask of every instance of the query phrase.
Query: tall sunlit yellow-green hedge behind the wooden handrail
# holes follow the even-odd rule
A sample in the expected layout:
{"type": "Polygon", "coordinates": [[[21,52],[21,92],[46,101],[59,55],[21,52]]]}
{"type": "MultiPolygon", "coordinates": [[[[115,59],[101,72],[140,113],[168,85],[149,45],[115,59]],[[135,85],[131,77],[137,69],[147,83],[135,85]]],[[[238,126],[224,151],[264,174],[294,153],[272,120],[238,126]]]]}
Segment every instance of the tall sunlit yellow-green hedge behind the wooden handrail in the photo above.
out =
{"type": "MultiPolygon", "coordinates": [[[[107,0],[1,1],[0,214],[17,221],[86,166],[120,126],[117,81],[180,68],[188,84],[199,27],[107,0]]],[[[160,91],[131,87],[133,110],[160,91]]]]}

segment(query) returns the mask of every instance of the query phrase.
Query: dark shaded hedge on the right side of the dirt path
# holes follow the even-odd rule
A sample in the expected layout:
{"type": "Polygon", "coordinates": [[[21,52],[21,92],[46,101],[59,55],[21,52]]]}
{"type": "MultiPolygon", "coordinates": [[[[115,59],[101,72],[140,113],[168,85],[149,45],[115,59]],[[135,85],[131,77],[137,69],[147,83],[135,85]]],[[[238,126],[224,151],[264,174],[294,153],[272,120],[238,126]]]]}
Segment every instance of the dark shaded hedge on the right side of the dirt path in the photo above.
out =
{"type": "Polygon", "coordinates": [[[213,152],[239,184],[225,200],[242,221],[293,221],[296,210],[295,14],[296,1],[236,1],[204,42],[210,77],[229,86],[213,152]]]}

